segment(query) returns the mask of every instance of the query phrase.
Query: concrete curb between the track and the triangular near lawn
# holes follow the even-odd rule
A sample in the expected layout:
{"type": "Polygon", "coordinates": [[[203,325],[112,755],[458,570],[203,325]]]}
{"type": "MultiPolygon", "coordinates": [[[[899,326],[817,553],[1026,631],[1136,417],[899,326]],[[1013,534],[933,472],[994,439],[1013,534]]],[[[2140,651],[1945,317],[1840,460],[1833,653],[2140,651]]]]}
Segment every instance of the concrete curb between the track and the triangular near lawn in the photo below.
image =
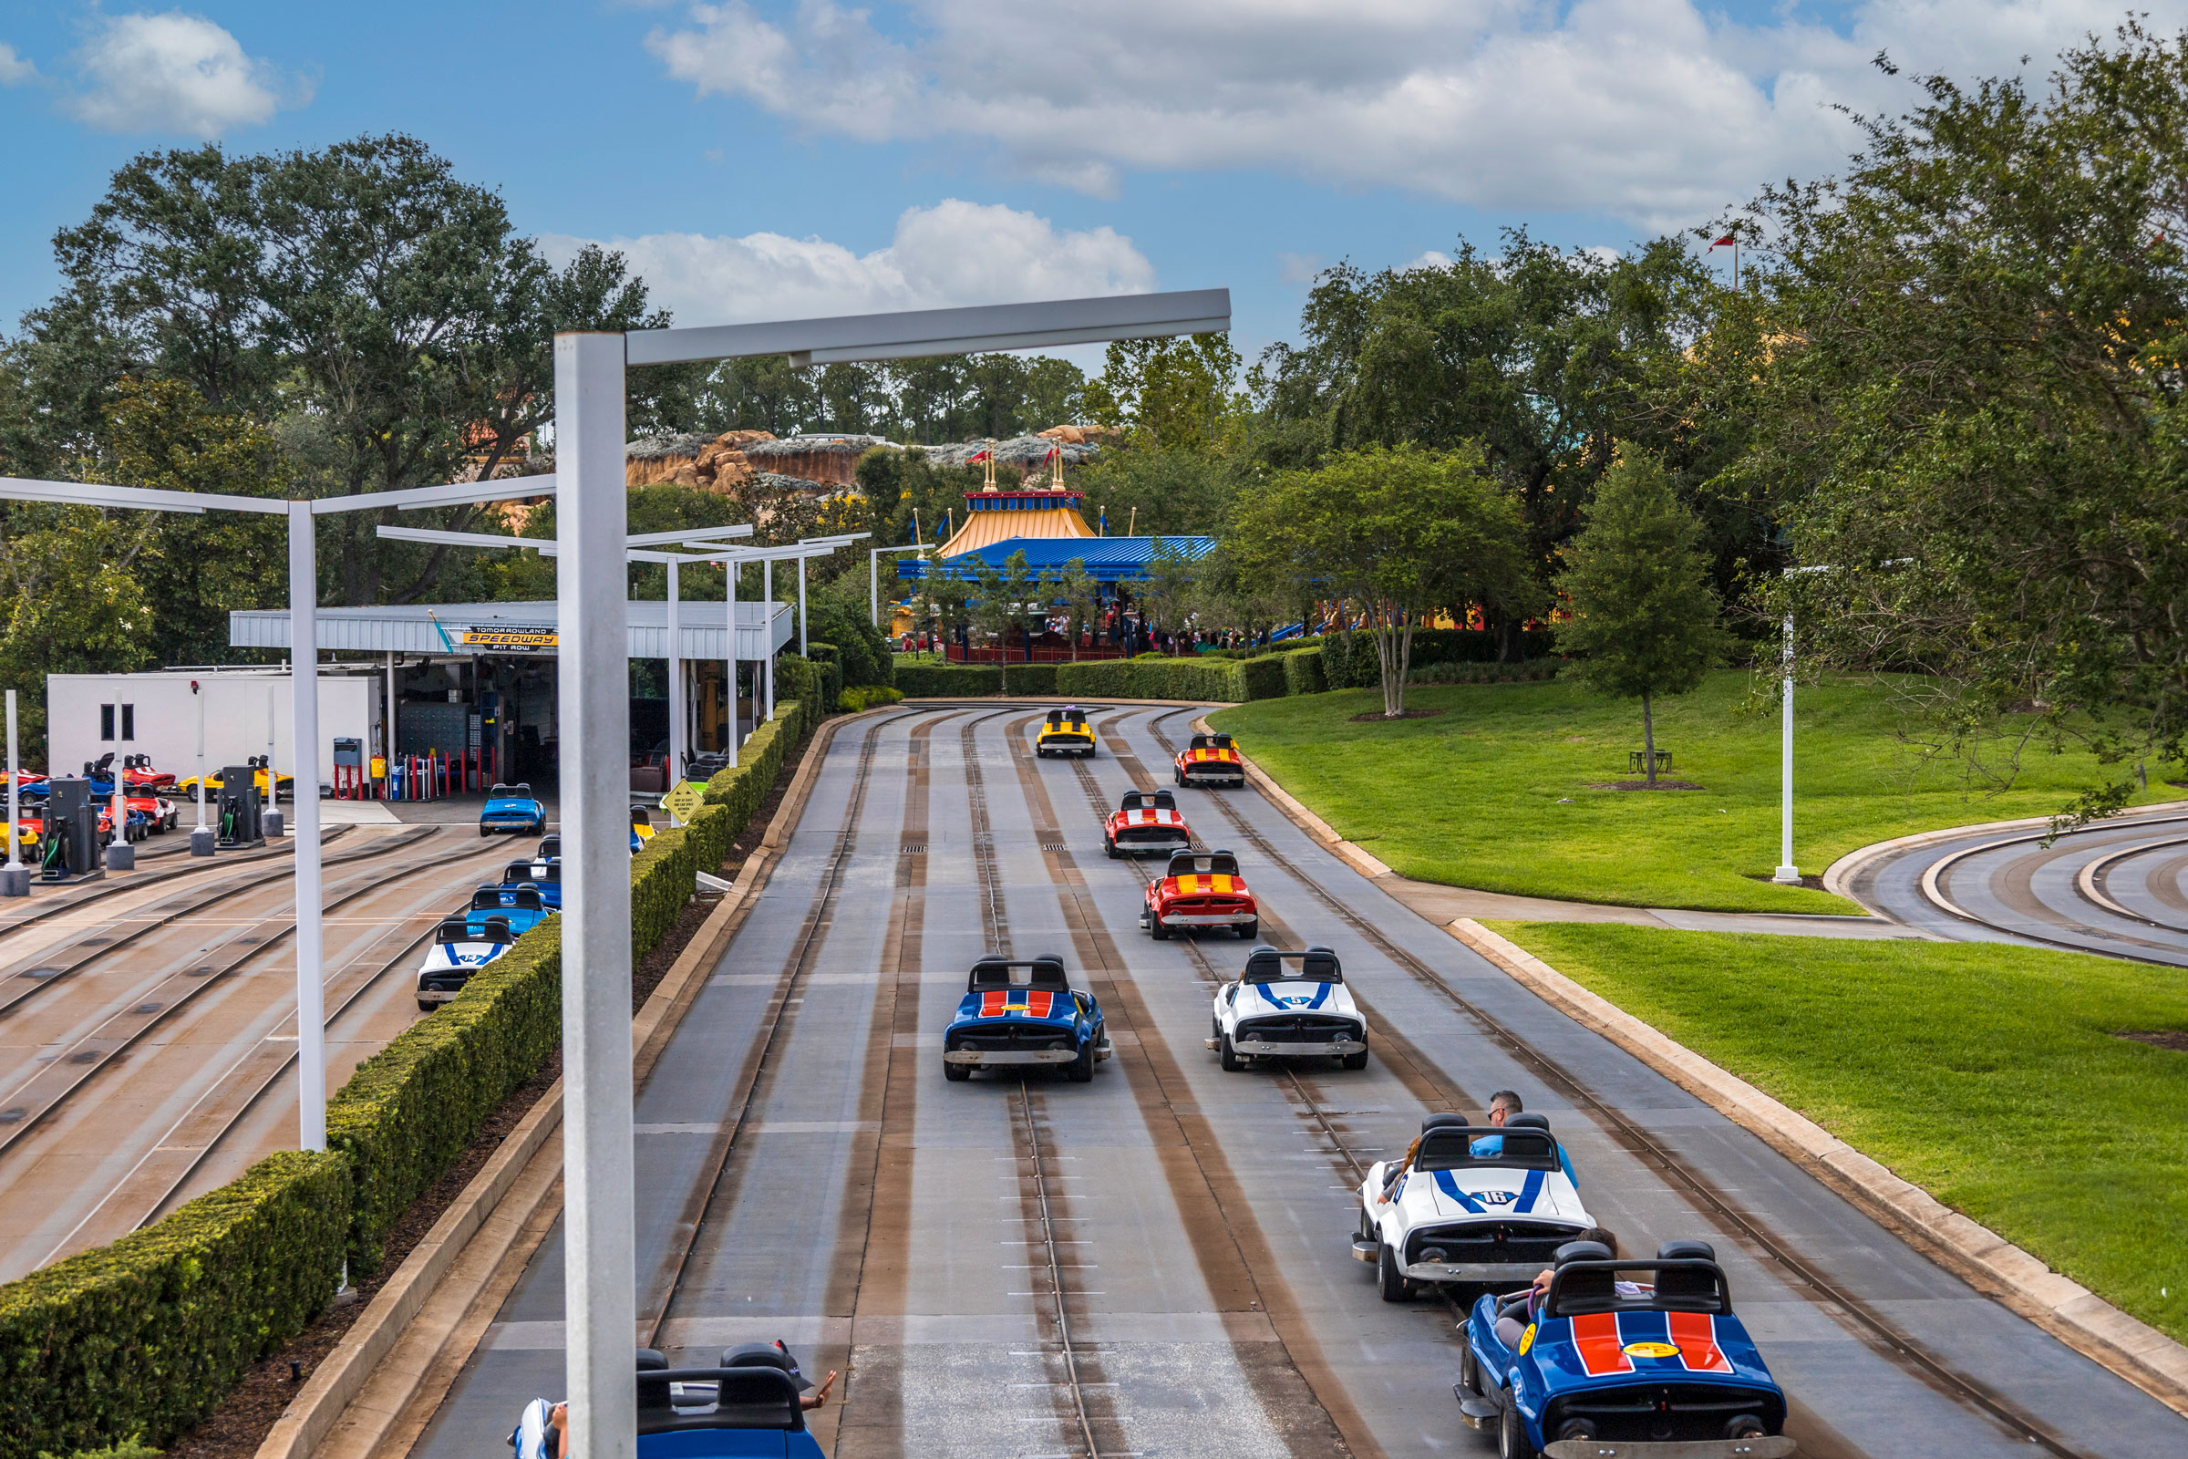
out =
{"type": "Polygon", "coordinates": [[[1475,919],[1462,917],[1446,932],[1573,1022],[1759,1135],[1978,1291],[2188,1415],[2188,1347],[2181,1343],[2048,1269],[1998,1232],[1943,1205],[1814,1120],[1672,1041],[1475,919]]]}

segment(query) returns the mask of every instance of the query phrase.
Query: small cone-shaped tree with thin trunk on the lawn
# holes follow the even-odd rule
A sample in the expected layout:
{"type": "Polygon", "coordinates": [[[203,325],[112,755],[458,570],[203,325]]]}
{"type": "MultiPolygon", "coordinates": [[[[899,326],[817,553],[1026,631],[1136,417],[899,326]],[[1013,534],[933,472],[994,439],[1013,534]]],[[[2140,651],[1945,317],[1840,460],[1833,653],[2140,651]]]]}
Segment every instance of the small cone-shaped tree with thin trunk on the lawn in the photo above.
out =
{"type": "Polygon", "coordinates": [[[1663,462],[1619,453],[1595,488],[1558,575],[1571,619],[1558,650],[1599,693],[1641,700],[1641,748],[1656,785],[1659,696],[1687,693],[1724,658],[1726,632],[1709,588],[1702,525],[1672,494],[1663,462]]]}

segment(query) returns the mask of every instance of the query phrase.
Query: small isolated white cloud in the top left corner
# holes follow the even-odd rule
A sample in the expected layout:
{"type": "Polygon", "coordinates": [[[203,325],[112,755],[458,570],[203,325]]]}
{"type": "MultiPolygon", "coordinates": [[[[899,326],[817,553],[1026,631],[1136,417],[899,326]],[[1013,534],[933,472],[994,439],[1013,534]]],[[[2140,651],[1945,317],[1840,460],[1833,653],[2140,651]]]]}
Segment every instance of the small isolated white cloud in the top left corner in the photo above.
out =
{"type": "Polygon", "coordinates": [[[252,59],[236,37],[203,15],[112,15],[77,52],[88,90],[68,112],[101,131],[173,131],[217,138],[256,127],[311,87],[252,59]]]}

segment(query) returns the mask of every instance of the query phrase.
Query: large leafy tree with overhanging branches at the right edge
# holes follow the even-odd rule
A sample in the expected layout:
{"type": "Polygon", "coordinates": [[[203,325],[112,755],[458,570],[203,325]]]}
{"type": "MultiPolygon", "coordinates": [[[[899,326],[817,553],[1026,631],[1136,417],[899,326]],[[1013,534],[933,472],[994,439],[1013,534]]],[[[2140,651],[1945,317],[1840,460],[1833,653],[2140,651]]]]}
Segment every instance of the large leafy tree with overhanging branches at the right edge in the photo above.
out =
{"type": "Polygon", "coordinates": [[[2030,742],[2122,766],[2070,807],[2103,814],[2188,748],[2188,37],[1915,87],[1840,179],[1742,219],[1768,332],[1726,475],[1838,569],[1770,599],[1814,661],[1928,669],[1971,763],[2033,709],[2030,742]]]}

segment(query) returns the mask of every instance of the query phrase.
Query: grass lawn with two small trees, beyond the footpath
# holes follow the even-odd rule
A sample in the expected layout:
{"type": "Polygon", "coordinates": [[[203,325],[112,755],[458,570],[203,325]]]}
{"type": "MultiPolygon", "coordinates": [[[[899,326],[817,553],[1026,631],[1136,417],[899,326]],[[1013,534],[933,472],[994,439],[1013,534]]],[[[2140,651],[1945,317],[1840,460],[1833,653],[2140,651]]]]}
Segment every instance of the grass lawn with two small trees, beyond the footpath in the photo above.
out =
{"type": "MultiPolygon", "coordinates": [[[[1575,685],[1407,689],[1433,720],[1354,724],[1374,689],[1256,700],[1212,715],[1339,836],[1420,882],[1494,892],[1729,912],[1853,912],[1829,892],[1774,886],[1779,717],[1735,715],[1744,672],[1656,707],[1656,748],[1702,790],[1626,792],[1639,700],[1575,685]]],[[[1803,685],[1794,704],[1794,864],[1816,875],[1869,842],[2048,816],[2105,779],[2090,755],[2024,755],[2013,790],[1969,785],[1952,761],[1901,744],[1901,711],[1873,682],[1803,685]]],[[[2151,774],[2138,803],[2179,798],[2151,774]]]]}

